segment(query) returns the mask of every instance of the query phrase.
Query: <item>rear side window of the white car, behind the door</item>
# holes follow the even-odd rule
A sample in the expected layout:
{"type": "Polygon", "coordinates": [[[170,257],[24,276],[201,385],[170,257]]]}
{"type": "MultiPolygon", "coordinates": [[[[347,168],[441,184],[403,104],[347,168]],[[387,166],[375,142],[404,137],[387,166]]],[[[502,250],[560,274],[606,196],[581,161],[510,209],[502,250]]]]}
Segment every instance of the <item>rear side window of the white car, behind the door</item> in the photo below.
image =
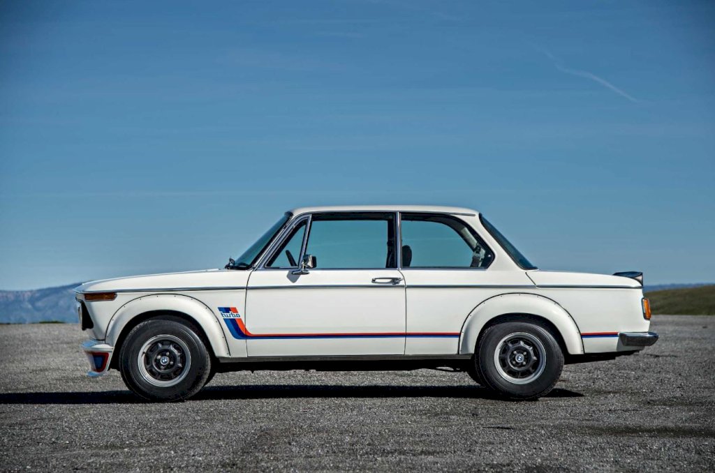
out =
{"type": "Polygon", "coordinates": [[[438,214],[403,214],[402,266],[405,268],[485,268],[490,249],[465,222],[438,214]]]}

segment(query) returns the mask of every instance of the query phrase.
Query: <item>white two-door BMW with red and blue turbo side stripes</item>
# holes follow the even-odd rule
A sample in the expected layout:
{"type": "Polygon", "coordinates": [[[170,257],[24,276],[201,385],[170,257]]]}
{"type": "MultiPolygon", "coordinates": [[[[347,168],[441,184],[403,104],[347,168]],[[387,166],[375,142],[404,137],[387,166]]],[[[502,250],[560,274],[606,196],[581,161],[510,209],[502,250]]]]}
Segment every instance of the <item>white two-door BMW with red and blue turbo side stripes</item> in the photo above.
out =
{"type": "Polygon", "coordinates": [[[642,283],[540,271],[474,210],[340,206],[287,212],[224,269],[75,291],[89,375],[118,369],[146,399],[216,372],[445,367],[531,399],[564,363],[656,342],[642,283]]]}

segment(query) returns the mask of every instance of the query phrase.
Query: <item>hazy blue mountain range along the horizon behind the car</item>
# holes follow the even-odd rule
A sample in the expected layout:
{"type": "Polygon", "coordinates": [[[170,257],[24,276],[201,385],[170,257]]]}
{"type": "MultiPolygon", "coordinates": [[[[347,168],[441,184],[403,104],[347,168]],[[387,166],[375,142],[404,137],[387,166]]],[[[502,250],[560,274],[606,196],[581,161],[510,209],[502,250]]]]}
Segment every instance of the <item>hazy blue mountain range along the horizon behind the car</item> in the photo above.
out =
{"type": "MultiPolygon", "coordinates": [[[[36,322],[78,322],[74,312],[74,289],[81,283],[31,291],[0,291],[0,323],[31,324],[36,322]]],[[[694,284],[655,284],[646,292],[705,286],[694,284]]]]}

